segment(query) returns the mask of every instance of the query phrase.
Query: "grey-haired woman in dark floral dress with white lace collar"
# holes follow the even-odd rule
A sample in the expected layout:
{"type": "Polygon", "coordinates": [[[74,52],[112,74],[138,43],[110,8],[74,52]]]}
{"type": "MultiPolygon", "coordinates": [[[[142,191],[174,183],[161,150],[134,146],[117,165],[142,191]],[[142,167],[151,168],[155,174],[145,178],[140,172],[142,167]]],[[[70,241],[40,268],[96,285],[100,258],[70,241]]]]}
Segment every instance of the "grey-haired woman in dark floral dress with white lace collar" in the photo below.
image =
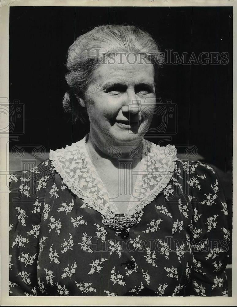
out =
{"type": "Polygon", "coordinates": [[[134,26],[95,27],[70,46],[63,105],[90,130],[10,176],[10,295],[227,295],[215,171],[144,138],[159,59],[134,26]]]}

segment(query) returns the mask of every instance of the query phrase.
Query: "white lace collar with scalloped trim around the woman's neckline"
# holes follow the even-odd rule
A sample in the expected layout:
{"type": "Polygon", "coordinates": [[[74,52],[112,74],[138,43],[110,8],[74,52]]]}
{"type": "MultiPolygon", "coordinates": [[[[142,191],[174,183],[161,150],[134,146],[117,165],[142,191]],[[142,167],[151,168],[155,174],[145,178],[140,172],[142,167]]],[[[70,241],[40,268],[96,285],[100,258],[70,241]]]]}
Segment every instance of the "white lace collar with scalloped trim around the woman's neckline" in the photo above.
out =
{"type": "MultiPolygon", "coordinates": [[[[62,149],[50,150],[49,158],[66,186],[89,207],[103,216],[114,216],[119,210],[110,199],[92,161],[85,143],[88,135],[80,141],[62,149]]],[[[174,145],[158,146],[143,138],[140,169],[127,208],[127,214],[141,211],[162,192],[175,169],[176,149],[174,145]]]]}

